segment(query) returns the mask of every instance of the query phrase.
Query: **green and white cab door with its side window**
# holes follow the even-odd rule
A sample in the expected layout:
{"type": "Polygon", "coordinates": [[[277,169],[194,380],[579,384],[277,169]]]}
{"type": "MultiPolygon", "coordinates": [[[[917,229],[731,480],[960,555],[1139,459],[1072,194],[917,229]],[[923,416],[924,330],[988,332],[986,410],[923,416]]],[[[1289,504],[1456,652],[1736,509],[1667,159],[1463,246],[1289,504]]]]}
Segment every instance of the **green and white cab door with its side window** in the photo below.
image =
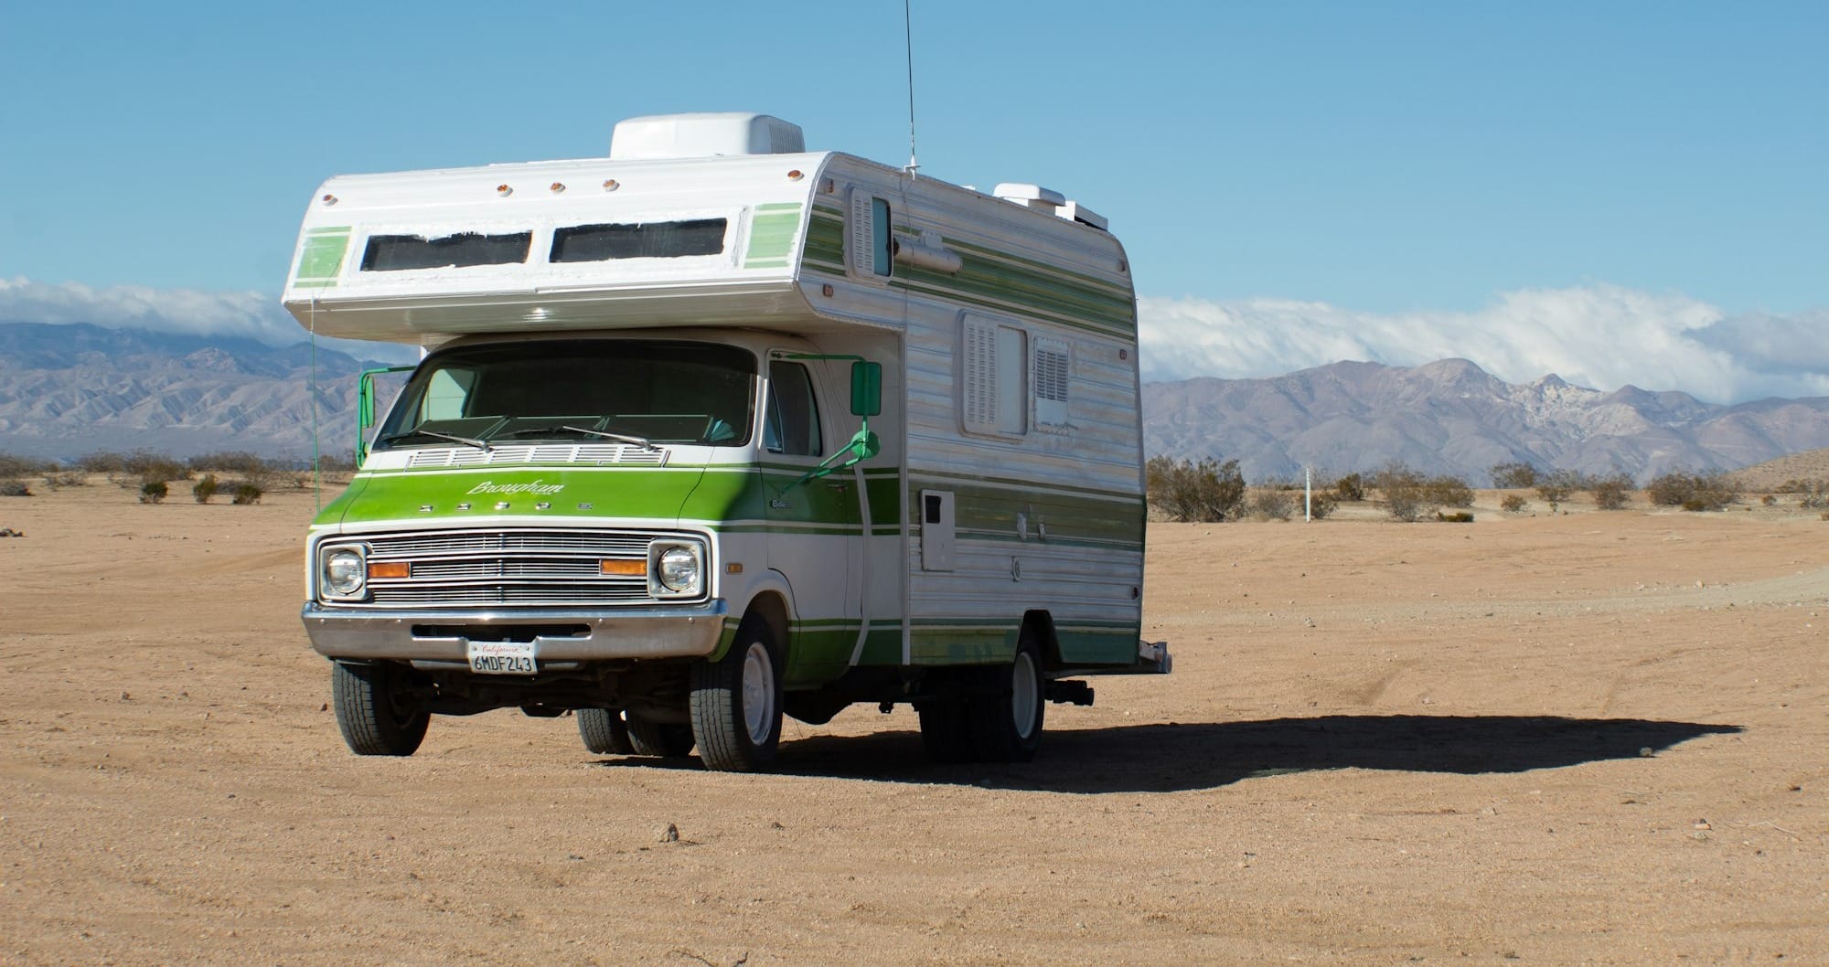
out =
{"type": "MultiPolygon", "coordinates": [[[[770,358],[763,397],[761,470],[768,565],[794,589],[796,627],[786,685],[836,678],[850,665],[863,618],[863,537],[850,470],[803,481],[838,448],[832,397],[808,362],[770,358]]],[[[840,441],[841,442],[841,441],[840,441]]]]}

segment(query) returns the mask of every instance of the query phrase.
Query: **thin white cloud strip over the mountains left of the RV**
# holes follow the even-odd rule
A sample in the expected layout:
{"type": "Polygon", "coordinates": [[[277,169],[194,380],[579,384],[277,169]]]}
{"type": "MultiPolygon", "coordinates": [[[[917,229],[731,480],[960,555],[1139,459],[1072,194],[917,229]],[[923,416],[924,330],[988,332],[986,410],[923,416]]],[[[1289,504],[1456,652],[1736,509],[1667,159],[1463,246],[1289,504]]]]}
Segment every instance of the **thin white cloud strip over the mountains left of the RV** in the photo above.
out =
{"type": "MultiPolygon", "coordinates": [[[[269,345],[305,342],[309,333],[269,292],[152,289],[79,282],[48,283],[0,278],[0,322],[68,325],[88,322],[102,329],[150,329],[194,336],[243,336],[269,345]]],[[[320,340],[358,358],[412,360],[419,351],[382,342],[320,340]]]]}

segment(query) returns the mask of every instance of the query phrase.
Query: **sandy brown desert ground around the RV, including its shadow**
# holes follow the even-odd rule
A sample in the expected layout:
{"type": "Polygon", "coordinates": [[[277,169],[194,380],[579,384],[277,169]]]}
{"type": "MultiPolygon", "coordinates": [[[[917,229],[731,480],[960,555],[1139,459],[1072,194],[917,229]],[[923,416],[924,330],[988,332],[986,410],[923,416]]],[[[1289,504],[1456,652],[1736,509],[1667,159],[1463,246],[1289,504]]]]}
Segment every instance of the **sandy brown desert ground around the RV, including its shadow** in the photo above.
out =
{"type": "Polygon", "coordinates": [[[313,495],[135,501],[0,497],[0,963],[1829,962],[1814,512],[1152,525],[1174,675],[1033,764],[854,707],[719,775],[353,757],[313,495]]]}

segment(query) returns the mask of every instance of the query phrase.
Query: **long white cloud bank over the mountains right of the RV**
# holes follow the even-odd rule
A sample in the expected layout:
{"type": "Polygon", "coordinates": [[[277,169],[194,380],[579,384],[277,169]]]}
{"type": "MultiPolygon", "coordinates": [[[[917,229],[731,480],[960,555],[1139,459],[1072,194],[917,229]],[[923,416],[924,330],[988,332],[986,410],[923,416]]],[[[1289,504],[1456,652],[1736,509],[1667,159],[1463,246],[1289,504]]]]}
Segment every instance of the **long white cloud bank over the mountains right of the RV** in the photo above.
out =
{"type": "Polygon", "coordinates": [[[1829,395],[1829,311],[1727,316],[1619,285],[1522,289],[1471,313],[1355,313],[1319,302],[1139,298],[1143,377],[1271,377],[1339,360],[1447,356],[1507,382],[1547,373],[1705,400],[1829,395]]]}

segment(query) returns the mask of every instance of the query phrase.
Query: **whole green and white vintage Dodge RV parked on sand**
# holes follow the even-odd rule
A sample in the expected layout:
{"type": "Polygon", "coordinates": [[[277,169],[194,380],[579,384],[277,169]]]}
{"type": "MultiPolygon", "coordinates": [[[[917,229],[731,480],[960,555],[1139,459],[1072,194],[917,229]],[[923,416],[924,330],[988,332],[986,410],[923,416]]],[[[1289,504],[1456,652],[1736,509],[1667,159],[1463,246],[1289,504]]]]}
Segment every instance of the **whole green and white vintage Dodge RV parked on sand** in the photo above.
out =
{"type": "Polygon", "coordinates": [[[424,349],[309,534],[357,753],[519,707],[757,770],[783,713],[905,702],[940,760],[1026,760],[1081,676],[1169,671],[1130,269],[1055,192],[644,117],[607,159],[326,181],[285,307],[424,349]]]}

